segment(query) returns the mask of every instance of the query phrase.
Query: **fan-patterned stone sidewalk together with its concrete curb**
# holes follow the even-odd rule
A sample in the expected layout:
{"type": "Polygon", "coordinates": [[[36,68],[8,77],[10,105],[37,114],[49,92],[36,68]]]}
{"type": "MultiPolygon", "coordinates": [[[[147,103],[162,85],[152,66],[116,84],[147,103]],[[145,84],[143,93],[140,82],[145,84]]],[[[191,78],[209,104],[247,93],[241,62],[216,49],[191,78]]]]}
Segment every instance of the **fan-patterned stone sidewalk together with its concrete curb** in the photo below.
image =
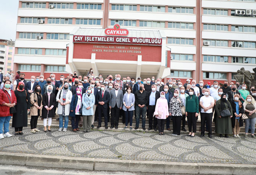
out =
{"type": "MultiPolygon", "coordinates": [[[[241,139],[236,139],[213,135],[210,139],[201,138],[198,133],[191,138],[171,133],[159,136],[154,132],[57,130],[52,128],[52,132],[33,134],[25,128],[22,136],[0,140],[0,163],[109,171],[177,170],[174,173],[197,174],[199,167],[202,173],[206,173],[203,167],[208,168],[208,173],[214,170],[212,174],[222,174],[225,168],[234,173],[233,170],[240,167],[236,173],[255,174],[256,139],[251,137],[241,135],[241,139]]],[[[10,133],[13,132],[11,129],[10,133]]]]}

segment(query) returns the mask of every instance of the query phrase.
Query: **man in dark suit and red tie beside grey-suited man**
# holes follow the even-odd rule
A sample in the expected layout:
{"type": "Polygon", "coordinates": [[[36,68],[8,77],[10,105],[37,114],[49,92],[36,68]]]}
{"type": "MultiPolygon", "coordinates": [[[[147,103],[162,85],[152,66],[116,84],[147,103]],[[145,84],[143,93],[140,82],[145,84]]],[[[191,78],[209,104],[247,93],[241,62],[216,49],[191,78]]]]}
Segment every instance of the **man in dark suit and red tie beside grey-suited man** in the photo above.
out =
{"type": "Polygon", "coordinates": [[[108,115],[107,115],[107,108],[109,103],[109,93],[105,90],[105,84],[101,84],[101,90],[97,94],[97,104],[98,104],[98,127],[101,127],[101,115],[103,112],[104,121],[105,121],[105,128],[108,129],[108,115]]]}

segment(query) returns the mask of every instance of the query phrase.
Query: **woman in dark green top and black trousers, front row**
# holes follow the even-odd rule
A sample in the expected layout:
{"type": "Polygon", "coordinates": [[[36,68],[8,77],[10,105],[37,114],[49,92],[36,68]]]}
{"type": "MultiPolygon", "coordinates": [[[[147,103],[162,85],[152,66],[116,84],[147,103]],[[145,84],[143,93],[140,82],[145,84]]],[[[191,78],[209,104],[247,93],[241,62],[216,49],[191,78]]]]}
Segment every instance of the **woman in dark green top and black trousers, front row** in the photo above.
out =
{"type": "Polygon", "coordinates": [[[196,119],[199,113],[199,101],[193,88],[189,89],[189,96],[186,98],[186,116],[188,118],[189,137],[195,137],[196,119]],[[192,132],[193,125],[193,132],[192,132]]]}

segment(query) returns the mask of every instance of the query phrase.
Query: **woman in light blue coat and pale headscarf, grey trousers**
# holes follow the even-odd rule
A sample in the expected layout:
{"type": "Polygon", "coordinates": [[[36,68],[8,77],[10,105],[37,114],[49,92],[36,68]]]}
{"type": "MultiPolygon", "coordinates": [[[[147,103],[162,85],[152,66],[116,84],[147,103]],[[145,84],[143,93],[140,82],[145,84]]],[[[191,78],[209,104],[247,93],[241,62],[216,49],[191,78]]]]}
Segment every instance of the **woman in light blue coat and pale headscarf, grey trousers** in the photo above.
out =
{"type": "Polygon", "coordinates": [[[93,118],[93,105],[95,103],[94,94],[91,91],[91,86],[88,86],[86,93],[82,97],[83,103],[83,132],[90,132],[91,119],[93,118]]]}

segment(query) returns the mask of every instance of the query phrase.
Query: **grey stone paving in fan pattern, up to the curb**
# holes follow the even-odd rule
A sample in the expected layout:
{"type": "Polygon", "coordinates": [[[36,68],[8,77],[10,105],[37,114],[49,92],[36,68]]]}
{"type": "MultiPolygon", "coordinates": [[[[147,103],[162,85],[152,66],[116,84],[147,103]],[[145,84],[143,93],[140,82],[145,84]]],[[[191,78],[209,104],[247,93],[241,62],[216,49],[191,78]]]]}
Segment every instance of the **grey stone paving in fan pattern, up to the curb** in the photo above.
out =
{"type": "MultiPolygon", "coordinates": [[[[43,128],[39,128],[43,130],[43,128]]],[[[212,139],[160,136],[156,132],[94,130],[89,133],[52,132],[30,133],[0,140],[1,152],[32,153],[84,158],[147,160],[192,163],[256,164],[256,139],[252,137],[212,139]]],[[[11,129],[10,133],[14,133],[11,129]]]]}

